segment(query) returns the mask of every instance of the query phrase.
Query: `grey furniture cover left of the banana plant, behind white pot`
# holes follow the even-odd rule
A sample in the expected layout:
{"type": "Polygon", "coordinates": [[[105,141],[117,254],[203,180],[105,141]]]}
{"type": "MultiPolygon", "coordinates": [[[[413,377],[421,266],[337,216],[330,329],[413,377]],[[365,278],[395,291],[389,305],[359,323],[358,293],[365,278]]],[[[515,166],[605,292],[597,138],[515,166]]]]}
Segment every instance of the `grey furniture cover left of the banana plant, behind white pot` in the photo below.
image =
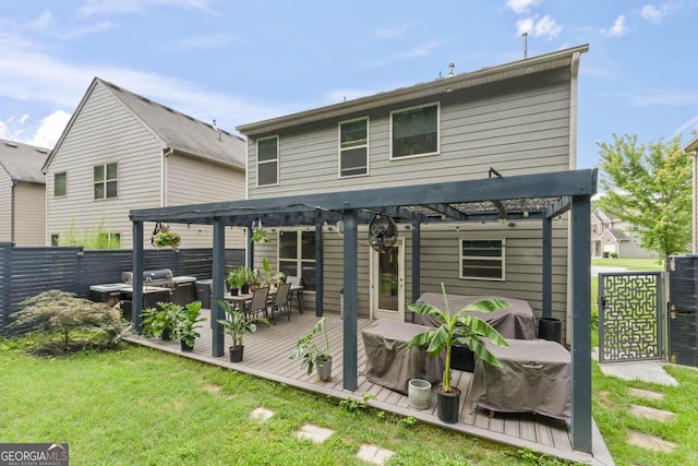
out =
{"type": "Polygon", "coordinates": [[[440,382],[445,360],[425,348],[409,348],[412,336],[433,330],[423,325],[377,320],[361,332],[366,353],[365,377],[373,383],[407,394],[410,379],[440,382]]]}

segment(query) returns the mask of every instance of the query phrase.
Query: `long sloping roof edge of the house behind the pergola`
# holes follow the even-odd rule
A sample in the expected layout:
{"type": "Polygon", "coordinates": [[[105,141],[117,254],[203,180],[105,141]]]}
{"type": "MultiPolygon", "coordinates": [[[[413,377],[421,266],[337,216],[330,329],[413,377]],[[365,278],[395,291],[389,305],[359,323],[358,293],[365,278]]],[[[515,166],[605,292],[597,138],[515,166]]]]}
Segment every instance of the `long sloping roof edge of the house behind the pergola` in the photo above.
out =
{"type": "Polygon", "coordinates": [[[497,81],[532,75],[558,68],[567,68],[573,64],[575,56],[588,50],[589,45],[573,47],[554,51],[552,53],[513,61],[506,64],[486,67],[478,71],[459,73],[448,77],[440,77],[429,83],[420,83],[413,86],[401,87],[395,91],[384,92],[354,100],[348,100],[255,123],[242,124],[236,129],[248,136],[255,136],[322,119],[340,118],[350,113],[366,111],[385,105],[400,104],[413,100],[414,98],[432,97],[497,81]]]}

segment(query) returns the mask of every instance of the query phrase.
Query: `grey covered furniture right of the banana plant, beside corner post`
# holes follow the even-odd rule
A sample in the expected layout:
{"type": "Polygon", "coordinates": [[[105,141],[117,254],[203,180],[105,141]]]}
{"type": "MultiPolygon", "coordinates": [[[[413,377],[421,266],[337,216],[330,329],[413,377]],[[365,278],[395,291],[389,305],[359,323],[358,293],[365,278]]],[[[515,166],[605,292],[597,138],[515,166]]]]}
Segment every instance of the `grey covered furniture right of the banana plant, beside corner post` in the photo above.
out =
{"type": "Polygon", "coordinates": [[[485,342],[501,368],[476,357],[468,398],[494,411],[538,413],[569,419],[569,351],[545,339],[509,339],[502,348],[485,342]]]}

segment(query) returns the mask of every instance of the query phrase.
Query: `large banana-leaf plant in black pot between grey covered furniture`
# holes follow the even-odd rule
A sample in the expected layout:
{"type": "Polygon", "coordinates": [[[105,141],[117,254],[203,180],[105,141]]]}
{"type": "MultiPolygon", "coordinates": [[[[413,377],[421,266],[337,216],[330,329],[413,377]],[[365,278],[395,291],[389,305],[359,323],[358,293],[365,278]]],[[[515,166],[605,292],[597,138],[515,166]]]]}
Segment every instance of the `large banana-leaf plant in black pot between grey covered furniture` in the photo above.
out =
{"type": "Polygon", "coordinates": [[[483,361],[498,367],[500,361],[488,350],[480,338],[488,338],[493,344],[502,347],[508,347],[509,344],[506,343],[500,332],[492,325],[479,316],[471,315],[469,312],[492,312],[509,307],[509,302],[502,299],[482,299],[471,302],[452,315],[446,298],[446,288],[443,283],[441,284],[441,289],[444,295],[445,311],[421,302],[411,302],[408,304],[410,311],[433,315],[441,322],[438,327],[414,335],[408,346],[428,345],[426,353],[432,358],[438,356],[442,351],[446,351],[444,377],[442,384],[436,387],[436,409],[438,419],[453,423],[458,422],[460,390],[450,385],[452,347],[454,343],[465,345],[483,361]]]}

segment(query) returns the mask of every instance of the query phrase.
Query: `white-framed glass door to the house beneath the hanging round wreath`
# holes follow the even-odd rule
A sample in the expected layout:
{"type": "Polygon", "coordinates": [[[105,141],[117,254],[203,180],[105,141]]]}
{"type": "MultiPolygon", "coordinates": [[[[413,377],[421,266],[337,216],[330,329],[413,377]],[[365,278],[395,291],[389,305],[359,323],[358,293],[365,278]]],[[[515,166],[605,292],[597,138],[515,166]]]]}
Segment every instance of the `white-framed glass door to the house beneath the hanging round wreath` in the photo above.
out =
{"type": "Polygon", "coordinates": [[[385,252],[371,249],[371,314],[405,322],[405,240],[385,252]]]}

